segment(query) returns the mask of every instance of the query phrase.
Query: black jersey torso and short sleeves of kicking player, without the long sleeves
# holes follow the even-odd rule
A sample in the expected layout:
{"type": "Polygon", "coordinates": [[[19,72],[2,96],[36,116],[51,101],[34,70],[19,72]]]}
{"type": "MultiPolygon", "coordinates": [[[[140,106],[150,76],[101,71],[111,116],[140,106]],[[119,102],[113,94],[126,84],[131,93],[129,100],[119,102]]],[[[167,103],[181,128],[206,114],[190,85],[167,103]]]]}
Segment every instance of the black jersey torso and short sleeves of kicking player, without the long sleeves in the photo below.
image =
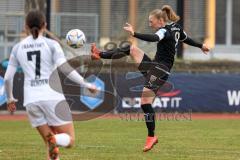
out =
{"type": "Polygon", "coordinates": [[[169,69],[172,68],[174,57],[179,40],[184,41],[187,38],[179,24],[171,23],[165,27],[160,28],[155,34],[162,36],[157,44],[157,52],[154,61],[163,63],[169,69]],[[164,36],[160,35],[163,34],[164,36]]]}

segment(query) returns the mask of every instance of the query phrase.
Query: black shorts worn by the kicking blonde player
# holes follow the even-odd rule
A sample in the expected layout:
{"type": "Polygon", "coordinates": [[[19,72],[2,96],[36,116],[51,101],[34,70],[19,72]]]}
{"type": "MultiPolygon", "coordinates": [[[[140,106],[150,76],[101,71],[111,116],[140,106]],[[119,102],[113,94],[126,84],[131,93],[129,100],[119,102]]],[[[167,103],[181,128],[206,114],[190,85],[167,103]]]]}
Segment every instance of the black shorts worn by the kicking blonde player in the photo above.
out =
{"type": "Polygon", "coordinates": [[[146,54],[144,54],[138,69],[146,78],[144,87],[155,93],[164,85],[170,74],[170,69],[166,65],[152,61],[146,54]]]}

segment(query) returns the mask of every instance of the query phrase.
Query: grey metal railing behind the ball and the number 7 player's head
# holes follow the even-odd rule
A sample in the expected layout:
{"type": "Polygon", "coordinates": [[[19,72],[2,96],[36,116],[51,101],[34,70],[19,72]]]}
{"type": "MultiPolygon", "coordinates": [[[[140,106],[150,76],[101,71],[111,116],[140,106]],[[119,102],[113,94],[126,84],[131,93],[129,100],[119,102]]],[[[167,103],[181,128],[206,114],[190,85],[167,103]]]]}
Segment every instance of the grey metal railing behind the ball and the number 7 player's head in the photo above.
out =
{"type": "MultiPolygon", "coordinates": [[[[70,29],[86,33],[87,41],[98,41],[98,15],[92,13],[55,13],[51,17],[51,31],[61,39],[70,29]]],[[[12,47],[24,32],[24,13],[0,13],[0,60],[9,57],[12,47]]]]}

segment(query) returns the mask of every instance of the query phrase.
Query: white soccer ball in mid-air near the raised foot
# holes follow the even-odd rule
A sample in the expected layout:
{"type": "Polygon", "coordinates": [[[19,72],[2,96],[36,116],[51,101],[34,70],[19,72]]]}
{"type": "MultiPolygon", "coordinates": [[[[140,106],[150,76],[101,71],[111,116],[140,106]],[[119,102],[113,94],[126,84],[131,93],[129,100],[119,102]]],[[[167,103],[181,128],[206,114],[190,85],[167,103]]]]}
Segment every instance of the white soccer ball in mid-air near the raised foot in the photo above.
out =
{"type": "Polygon", "coordinates": [[[80,29],[72,29],[66,35],[67,44],[73,48],[81,48],[86,42],[86,37],[80,29]]]}

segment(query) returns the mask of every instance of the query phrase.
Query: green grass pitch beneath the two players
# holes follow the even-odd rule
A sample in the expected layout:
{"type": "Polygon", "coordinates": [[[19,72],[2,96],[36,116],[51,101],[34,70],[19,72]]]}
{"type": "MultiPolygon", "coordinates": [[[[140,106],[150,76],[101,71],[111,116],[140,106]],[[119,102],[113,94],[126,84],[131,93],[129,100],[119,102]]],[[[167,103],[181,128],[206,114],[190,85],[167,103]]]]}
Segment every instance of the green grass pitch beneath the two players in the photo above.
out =
{"type": "MultiPolygon", "coordinates": [[[[143,122],[75,122],[76,144],[61,160],[240,160],[239,120],[157,122],[159,143],[142,152],[143,122]]],[[[27,121],[0,122],[0,160],[45,160],[45,145],[27,121]]]]}

